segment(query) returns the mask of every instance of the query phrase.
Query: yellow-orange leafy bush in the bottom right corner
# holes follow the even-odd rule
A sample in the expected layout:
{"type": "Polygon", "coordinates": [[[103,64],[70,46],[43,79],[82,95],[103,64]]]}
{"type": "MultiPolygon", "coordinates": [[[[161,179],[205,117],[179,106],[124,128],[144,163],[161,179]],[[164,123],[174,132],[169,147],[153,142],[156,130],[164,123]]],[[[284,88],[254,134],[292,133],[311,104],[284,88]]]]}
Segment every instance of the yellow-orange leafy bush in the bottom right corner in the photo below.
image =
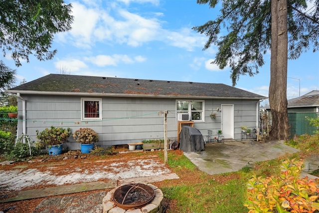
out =
{"type": "Polygon", "coordinates": [[[279,177],[249,180],[248,213],[318,213],[319,179],[300,178],[302,161],[285,161],[282,167],[279,177]]]}

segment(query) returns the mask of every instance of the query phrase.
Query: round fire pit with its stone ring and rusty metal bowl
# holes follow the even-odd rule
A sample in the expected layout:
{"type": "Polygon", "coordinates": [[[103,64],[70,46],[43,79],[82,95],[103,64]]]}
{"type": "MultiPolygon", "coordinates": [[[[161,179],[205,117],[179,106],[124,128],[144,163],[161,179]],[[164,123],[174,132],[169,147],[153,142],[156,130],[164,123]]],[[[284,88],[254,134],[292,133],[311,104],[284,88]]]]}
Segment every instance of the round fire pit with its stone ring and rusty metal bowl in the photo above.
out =
{"type": "Polygon", "coordinates": [[[162,213],[163,198],[161,190],[152,184],[126,184],[103,198],[103,213],[162,213]]]}

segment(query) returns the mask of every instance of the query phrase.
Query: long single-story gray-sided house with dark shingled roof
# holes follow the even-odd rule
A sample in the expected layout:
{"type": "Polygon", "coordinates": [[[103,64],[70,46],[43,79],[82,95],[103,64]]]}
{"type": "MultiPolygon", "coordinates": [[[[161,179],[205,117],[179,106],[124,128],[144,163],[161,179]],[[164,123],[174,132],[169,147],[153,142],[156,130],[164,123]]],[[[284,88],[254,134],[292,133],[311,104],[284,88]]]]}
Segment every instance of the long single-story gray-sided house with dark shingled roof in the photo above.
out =
{"type": "MultiPolygon", "coordinates": [[[[36,130],[89,127],[98,145],[141,142],[167,137],[177,140],[178,120],[191,120],[205,137],[207,130],[241,140],[241,126],[258,127],[259,102],[266,97],[218,83],[49,74],[9,92],[18,97],[17,135],[36,141],[36,130]],[[215,113],[216,118],[210,114],[215,113]]],[[[69,149],[79,149],[70,137],[69,149]]]]}

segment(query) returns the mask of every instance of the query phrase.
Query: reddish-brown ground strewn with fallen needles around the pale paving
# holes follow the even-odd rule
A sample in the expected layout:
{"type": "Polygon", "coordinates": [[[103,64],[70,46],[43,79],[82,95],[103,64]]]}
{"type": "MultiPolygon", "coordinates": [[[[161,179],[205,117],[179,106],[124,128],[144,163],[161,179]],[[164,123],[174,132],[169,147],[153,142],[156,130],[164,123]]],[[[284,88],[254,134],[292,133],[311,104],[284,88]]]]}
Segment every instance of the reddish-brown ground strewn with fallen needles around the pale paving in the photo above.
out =
{"type": "MultiPolygon", "coordinates": [[[[120,150],[120,151],[126,151],[126,150],[120,150]]],[[[182,151],[180,150],[171,150],[169,152],[174,152],[175,155],[182,155],[182,151]]],[[[150,159],[156,159],[157,162],[160,161],[158,166],[161,167],[161,169],[166,169],[173,171],[173,168],[169,168],[169,166],[164,165],[164,162],[158,157],[159,151],[156,152],[138,152],[138,153],[123,153],[123,154],[116,154],[116,155],[108,155],[108,156],[91,156],[91,155],[68,155],[68,159],[63,159],[65,156],[60,157],[52,157],[52,156],[44,156],[42,159],[44,159],[42,162],[34,162],[34,163],[27,163],[27,162],[16,162],[11,165],[5,165],[1,166],[0,170],[3,171],[12,171],[13,167],[20,166],[24,167],[27,165],[27,168],[21,169],[20,171],[27,170],[27,169],[37,169],[40,172],[46,172],[48,167],[43,166],[44,164],[57,164],[57,166],[50,167],[50,170],[53,174],[58,176],[68,175],[74,171],[77,173],[82,173],[84,175],[89,176],[90,174],[94,173],[94,169],[92,169],[92,165],[95,167],[103,166],[104,169],[107,169],[109,172],[114,173],[113,167],[105,167],[107,165],[115,164],[118,165],[118,168],[120,170],[125,170],[125,167],[131,167],[129,164],[125,164],[125,162],[130,162],[133,159],[139,159],[144,160],[143,164],[145,168],[147,168],[148,162],[150,164],[152,161],[150,159]],[[119,163],[120,162],[120,163],[119,163]],[[59,164],[60,163],[60,164],[59,164]],[[67,169],[66,169],[67,165],[67,169]]],[[[177,173],[176,173],[177,174],[177,173]]],[[[124,174],[122,174],[124,175],[124,174]]],[[[189,174],[186,172],[183,172],[182,170],[178,172],[178,177],[180,179],[174,179],[174,180],[165,180],[161,182],[154,183],[157,187],[161,188],[163,186],[174,186],[174,185],[181,185],[181,184],[195,184],[196,182],[200,181],[200,175],[199,173],[189,174]]],[[[121,179],[122,177],[119,177],[121,179]]],[[[125,178],[125,177],[123,177],[125,178]]],[[[236,178],[236,177],[231,177],[236,178]]],[[[219,181],[220,183],[225,182],[225,177],[216,175],[214,178],[216,181],[219,181]]],[[[108,181],[109,179],[105,178],[105,176],[96,177],[94,181],[108,181]]],[[[91,182],[94,182],[91,181],[91,182]]],[[[69,185],[74,184],[76,182],[69,182],[69,183],[63,183],[63,185],[69,185]]],[[[83,182],[82,182],[83,183],[83,182]]],[[[1,183],[0,183],[1,184],[1,183]]],[[[19,190],[30,190],[30,189],[41,189],[41,188],[47,188],[47,187],[53,187],[56,186],[56,183],[50,183],[50,182],[41,182],[41,183],[33,183],[29,186],[23,186],[22,188],[19,188],[18,186],[12,186],[12,189],[4,189],[0,188],[0,200],[7,199],[10,197],[14,197],[19,190]]],[[[103,191],[109,191],[109,190],[103,190],[103,191]]],[[[102,190],[98,191],[90,191],[90,192],[82,192],[82,193],[76,193],[73,195],[76,195],[78,197],[85,197],[89,196],[91,193],[97,193],[102,192],[102,190]]],[[[65,196],[65,195],[64,195],[65,196]]],[[[53,196],[53,197],[61,197],[61,196],[53,196]]],[[[63,196],[62,196],[63,197],[63,196]]],[[[10,202],[10,203],[0,203],[0,211],[5,212],[7,210],[7,213],[32,213],[34,209],[39,205],[41,201],[43,201],[46,198],[39,198],[39,199],[31,199],[31,200],[25,200],[25,201],[18,201],[18,202],[10,202]],[[14,209],[13,209],[14,207],[14,209]],[[11,209],[10,209],[11,208],[11,209]]],[[[173,207],[176,205],[177,201],[170,200],[164,198],[164,209],[169,210],[173,209],[173,207]]],[[[52,213],[55,212],[55,210],[52,209],[50,211],[52,213]]],[[[166,212],[166,211],[165,211],[166,212]]]]}

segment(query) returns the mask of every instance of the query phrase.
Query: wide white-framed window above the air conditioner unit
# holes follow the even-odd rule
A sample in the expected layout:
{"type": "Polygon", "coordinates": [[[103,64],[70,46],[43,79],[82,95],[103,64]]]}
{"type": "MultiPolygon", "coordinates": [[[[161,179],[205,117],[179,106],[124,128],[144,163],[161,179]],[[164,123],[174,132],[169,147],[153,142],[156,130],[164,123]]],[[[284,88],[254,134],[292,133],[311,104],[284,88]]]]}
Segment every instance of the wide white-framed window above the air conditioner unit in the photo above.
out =
{"type": "Polygon", "coordinates": [[[204,122],[203,100],[176,100],[176,113],[189,114],[191,120],[204,122]]]}

